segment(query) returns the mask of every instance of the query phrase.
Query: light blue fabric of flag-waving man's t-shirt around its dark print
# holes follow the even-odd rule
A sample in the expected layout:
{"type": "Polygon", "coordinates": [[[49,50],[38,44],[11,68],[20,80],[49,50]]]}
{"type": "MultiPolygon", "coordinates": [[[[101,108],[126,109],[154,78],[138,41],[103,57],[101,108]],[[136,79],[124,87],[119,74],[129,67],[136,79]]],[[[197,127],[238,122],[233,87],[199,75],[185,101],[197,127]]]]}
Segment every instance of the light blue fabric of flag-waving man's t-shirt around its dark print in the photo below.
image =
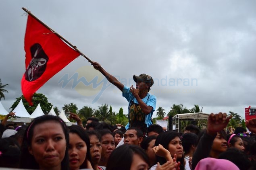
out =
{"type": "MultiPolygon", "coordinates": [[[[129,102],[128,111],[129,111],[129,106],[130,106],[131,102],[138,103],[137,99],[133,96],[132,92],[130,92],[130,87],[124,86],[123,97],[125,97],[126,100],[129,102]],[[131,101],[131,99],[132,99],[132,101],[131,101]]],[[[145,124],[147,125],[147,127],[149,127],[150,125],[152,125],[151,117],[152,117],[154,111],[156,110],[156,96],[148,93],[148,95],[146,97],[142,98],[142,101],[144,103],[146,103],[148,106],[153,107],[151,113],[149,113],[145,117],[145,124]]],[[[126,129],[129,128],[129,122],[127,123],[125,128],[126,129]]]]}

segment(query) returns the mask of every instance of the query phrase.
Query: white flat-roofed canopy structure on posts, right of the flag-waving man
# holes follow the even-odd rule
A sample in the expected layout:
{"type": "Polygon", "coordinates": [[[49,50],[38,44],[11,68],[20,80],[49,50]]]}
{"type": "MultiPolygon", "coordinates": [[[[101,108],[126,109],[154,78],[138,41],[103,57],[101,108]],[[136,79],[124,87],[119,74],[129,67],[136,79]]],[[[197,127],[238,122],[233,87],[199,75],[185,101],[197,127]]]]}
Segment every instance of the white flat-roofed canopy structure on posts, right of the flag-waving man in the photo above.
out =
{"type": "Polygon", "coordinates": [[[197,119],[208,119],[208,116],[210,114],[208,113],[182,113],[182,114],[177,114],[173,117],[173,130],[177,130],[178,132],[180,131],[179,129],[179,123],[180,119],[182,120],[187,120],[187,121],[193,121],[197,119]]]}

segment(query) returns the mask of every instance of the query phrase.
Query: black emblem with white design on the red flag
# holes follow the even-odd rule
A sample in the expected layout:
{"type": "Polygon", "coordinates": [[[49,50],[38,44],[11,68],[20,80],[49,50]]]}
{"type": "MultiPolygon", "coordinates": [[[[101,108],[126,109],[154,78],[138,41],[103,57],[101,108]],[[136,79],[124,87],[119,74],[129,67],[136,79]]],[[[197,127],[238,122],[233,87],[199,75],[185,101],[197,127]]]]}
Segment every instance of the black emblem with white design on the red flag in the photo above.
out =
{"type": "Polygon", "coordinates": [[[46,70],[46,63],[49,57],[44,52],[42,46],[38,43],[35,43],[30,47],[30,52],[32,59],[27,66],[25,72],[25,79],[29,82],[32,82],[42,76],[42,74],[46,70]]]}

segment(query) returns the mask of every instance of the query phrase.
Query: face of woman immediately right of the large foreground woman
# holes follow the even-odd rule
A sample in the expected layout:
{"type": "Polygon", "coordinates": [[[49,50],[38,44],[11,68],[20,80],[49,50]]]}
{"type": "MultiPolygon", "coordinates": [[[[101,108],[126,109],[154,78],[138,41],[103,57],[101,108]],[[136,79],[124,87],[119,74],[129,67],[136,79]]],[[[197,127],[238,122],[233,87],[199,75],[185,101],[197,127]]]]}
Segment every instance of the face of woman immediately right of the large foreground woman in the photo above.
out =
{"type": "Polygon", "coordinates": [[[69,167],[78,170],[86,158],[87,146],[79,135],[69,133],[69,167]]]}

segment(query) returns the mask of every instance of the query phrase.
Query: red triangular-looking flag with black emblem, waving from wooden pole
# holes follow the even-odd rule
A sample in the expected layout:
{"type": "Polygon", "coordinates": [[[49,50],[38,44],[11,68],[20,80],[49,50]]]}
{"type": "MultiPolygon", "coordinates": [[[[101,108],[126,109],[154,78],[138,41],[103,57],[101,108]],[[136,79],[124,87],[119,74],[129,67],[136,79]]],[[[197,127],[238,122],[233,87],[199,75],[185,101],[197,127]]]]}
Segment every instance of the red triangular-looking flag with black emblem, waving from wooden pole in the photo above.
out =
{"type": "Polygon", "coordinates": [[[24,48],[26,72],[21,80],[21,90],[25,99],[33,105],[32,96],[36,90],[80,53],[30,15],[27,18],[24,48]]]}

